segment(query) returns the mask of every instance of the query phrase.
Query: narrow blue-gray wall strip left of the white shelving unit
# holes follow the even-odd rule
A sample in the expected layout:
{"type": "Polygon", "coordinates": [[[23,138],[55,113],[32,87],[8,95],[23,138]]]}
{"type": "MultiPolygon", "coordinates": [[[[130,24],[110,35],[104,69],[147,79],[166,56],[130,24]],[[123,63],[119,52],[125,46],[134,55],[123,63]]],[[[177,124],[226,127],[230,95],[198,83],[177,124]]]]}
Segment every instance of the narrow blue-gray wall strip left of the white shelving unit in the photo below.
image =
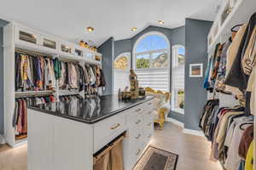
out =
{"type": "Polygon", "coordinates": [[[0,19],[0,134],[4,133],[3,113],[3,26],[8,22],[0,19]]]}

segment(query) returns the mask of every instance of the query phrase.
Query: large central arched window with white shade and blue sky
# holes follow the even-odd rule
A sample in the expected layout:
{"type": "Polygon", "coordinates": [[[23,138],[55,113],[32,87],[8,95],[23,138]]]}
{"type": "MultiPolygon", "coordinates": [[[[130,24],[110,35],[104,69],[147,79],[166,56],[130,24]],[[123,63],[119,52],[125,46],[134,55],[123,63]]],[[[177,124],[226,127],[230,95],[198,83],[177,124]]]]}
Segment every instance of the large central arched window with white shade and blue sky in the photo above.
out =
{"type": "Polygon", "coordinates": [[[139,86],[170,91],[170,43],[160,32],[148,32],[133,47],[133,69],[139,86]]]}

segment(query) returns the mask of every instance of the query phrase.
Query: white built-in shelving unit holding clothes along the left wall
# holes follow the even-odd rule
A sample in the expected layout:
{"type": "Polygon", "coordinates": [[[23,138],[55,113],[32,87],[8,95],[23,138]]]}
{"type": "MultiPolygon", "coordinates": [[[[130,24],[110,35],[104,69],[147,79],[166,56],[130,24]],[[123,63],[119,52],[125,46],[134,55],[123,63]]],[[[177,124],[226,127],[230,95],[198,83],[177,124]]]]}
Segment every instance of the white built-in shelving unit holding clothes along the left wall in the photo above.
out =
{"type": "MultiPolygon", "coordinates": [[[[15,92],[15,50],[26,50],[32,53],[44,54],[51,58],[78,62],[79,65],[99,65],[102,67],[102,54],[89,48],[81,48],[73,42],[67,42],[58,37],[46,35],[40,31],[11,22],[3,28],[4,48],[4,127],[5,142],[11,147],[26,144],[26,139],[15,139],[15,127],[13,127],[13,115],[15,111],[15,99],[22,96],[54,95],[56,99],[60,95],[80,94],[84,97],[84,91],[70,91],[59,89],[56,81],[55,90],[15,92]],[[96,57],[98,56],[98,57],[96,57]],[[100,59],[100,60],[97,60],[100,59]]],[[[29,134],[28,134],[29,135],[29,134]]]]}

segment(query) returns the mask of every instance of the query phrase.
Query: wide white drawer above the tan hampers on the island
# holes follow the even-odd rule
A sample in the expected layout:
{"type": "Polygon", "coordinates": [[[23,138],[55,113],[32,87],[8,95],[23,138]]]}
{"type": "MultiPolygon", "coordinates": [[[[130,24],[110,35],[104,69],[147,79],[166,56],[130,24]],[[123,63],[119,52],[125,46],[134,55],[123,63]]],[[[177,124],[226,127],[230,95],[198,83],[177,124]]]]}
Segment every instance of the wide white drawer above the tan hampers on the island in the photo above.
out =
{"type": "Polygon", "coordinates": [[[111,116],[94,125],[94,153],[127,130],[126,114],[111,116]]]}

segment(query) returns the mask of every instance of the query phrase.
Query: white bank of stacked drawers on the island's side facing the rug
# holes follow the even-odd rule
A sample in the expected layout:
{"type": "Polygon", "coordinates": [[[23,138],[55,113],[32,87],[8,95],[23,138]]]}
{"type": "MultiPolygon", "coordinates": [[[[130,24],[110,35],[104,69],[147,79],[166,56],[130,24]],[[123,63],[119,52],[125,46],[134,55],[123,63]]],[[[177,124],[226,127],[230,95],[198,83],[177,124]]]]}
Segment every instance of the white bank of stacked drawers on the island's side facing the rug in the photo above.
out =
{"type": "Polygon", "coordinates": [[[131,109],[127,113],[128,131],[124,140],[125,170],[135,166],[154,133],[152,101],[131,109]]]}

